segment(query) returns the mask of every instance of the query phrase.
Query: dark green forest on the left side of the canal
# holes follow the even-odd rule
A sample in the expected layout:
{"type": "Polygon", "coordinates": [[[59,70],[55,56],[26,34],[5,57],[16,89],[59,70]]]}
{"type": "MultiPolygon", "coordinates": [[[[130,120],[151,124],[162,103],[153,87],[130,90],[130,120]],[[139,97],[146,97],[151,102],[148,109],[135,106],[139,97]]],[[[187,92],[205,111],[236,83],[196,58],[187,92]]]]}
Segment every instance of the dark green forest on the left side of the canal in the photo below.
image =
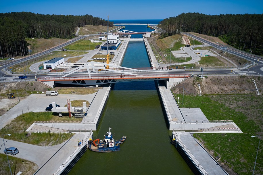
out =
{"type": "MultiPolygon", "coordinates": [[[[44,15],[31,12],[0,13],[1,57],[25,56],[26,38],[71,39],[76,27],[107,26],[107,20],[91,15],[44,15]]],[[[113,22],[109,22],[113,26],[113,22]]]]}

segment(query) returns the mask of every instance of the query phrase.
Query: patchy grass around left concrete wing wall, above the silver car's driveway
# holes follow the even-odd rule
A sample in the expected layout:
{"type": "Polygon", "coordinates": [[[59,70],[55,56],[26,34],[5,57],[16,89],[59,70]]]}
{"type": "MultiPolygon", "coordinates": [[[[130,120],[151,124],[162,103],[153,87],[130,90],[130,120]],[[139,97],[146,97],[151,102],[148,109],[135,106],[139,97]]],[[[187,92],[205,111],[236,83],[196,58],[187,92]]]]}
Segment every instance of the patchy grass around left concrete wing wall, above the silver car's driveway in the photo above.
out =
{"type": "MultiPolygon", "coordinates": [[[[10,140],[29,143],[33,145],[57,145],[63,143],[68,140],[73,134],[72,133],[31,133],[31,136],[26,137],[27,128],[35,121],[54,121],[53,118],[62,118],[58,116],[53,116],[52,112],[29,112],[25,114],[21,114],[14,120],[12,120],[9,124],[7,124],[4,128],[0,130],[0,134],[3,133],[12,133],[11,136],[8,137],[10,140]]],[[[66,118],[65,118],[66,119],[66,118]]],[[[73,119],[73,118],[71,118],[73,119]]],[[[69,118],[67,120],[70,120],[69,118]]]]}

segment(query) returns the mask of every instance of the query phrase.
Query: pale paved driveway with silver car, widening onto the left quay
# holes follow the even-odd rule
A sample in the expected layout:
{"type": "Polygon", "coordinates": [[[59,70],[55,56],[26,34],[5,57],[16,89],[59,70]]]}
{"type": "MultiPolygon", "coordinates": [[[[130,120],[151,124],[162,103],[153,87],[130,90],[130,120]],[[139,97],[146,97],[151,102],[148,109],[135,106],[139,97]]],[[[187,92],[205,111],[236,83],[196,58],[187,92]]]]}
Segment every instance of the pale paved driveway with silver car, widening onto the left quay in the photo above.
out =
{"type": "MultiPolygon", "coordinates": [[[[6,147],[16,147],[19,150],[19,153],[13,157],[18,157],[21,159],[26,159],[32,161],[39,168],[41,168],[36,174],[37,175],[51,175],[53,174],[59,166],[72,154],[72,152],[78,148],[78,140],[85,139],[89,135],[89,132],[75,134],[71,139],[55,146],[37,146],[31,145],[23,142],[17,142],[6,139],[6,147]],[[43,167],[42,167],[43,166],[43,167]]],[[[0,144],[3,143],[3,139],[0,139],[0,144]]],[[[85,146],[85,145],[83,145],[85,146]]],[[[0,150],[0,153],[3,154],[3,147],[0,150]]],[[[8,155],[12,156],[12,155],[8,155]]]]}

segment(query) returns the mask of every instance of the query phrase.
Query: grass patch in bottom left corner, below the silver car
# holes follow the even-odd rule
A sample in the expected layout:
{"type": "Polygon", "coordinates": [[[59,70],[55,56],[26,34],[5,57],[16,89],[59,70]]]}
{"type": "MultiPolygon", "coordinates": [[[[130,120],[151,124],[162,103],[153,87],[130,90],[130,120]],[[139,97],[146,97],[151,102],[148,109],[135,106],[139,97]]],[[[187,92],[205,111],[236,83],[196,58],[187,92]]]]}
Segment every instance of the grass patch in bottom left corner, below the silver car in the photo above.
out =
{"type": "MultiPolygon", "coordinates": [[[[38,169],[37,164],[25,159],[8,156],[8,160],[13,174],[17,174],[19,171],[22,171],[23,174],[34,174],[34,172],[36,172],[38,169]]],[[[0,154],[0,162],[0,174],[10,174],[9,165],[7,163],[7,157],[5,154],[0,154]]]]}

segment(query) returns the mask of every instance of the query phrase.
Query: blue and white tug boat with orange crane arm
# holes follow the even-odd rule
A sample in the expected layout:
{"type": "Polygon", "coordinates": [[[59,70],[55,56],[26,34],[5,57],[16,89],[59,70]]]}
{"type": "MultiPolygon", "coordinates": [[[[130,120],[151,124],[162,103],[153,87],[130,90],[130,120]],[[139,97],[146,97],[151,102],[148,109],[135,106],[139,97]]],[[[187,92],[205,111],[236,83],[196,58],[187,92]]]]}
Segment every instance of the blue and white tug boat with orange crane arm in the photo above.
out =
{"type": "Polygon", "coordinates": [[[120,144],[122,144],[126,140],[126,136],[123,136],[120,141],[114,141],[113,135],[110,132],[111,128],[109,127],[109,132],[107,135],[104,135],[104,139],[89,139],[88,148],[91,151],[95,152],[112,152],[112,151],[120,151],[120,144]],[[97,142],[97,143],[96,143],[97,142]]]}

